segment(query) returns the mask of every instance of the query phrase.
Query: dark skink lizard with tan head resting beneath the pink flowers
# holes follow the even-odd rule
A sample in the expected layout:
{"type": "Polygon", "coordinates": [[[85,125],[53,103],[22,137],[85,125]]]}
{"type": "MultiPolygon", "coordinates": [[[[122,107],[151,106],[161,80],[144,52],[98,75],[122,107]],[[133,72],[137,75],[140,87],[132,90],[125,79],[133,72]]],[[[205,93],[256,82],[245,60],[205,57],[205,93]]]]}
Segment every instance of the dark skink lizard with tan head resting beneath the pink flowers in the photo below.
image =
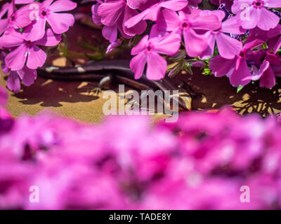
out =
{"type": "Polygon", "coordinates": [[[37,69],[39,76],[44,78],[51,78],[57,80],[86,80],[86,81],[100,81],[96,92],[98,90],[107,90],[112,82],[123,83],[129,85],[137,90],[178,90],[177,97],[178,104],[181,110],[186,111],[191,109],[190,88],[185,83],[176,85],[169,77],[162,80],[148,80],[144,75],[138,79],[134,79],[134,74],[129,67],[127,60],[109,60],[99,62],[88,62],[83,66],[42,66],[37,69]]]}

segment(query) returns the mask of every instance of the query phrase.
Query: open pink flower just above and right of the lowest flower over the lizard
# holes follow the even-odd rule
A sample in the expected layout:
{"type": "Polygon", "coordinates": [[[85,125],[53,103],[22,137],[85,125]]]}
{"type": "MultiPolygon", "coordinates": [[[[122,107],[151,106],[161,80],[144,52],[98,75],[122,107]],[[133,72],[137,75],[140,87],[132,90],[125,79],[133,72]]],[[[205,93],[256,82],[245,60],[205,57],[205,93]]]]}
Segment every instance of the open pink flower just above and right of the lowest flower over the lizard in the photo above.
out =
{"type": "Polygon", "coordinates": [[[208,47],[208,39],[196,31],[216,30],[221,22],[215,15],[200,15],[201,10],[192,10],[191,14],[164,9],[157,20],[157,27],[162,30],[183,34],[185,49],[190,57],[198,57],[208,47]]]}

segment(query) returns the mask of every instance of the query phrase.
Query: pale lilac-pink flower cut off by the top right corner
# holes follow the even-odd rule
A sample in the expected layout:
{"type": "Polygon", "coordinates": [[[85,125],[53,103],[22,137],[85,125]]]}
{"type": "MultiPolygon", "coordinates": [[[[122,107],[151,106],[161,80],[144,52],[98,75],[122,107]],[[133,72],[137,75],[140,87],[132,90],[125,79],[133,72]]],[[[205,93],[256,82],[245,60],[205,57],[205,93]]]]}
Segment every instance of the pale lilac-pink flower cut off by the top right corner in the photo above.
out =
{"type": "Polygon", "coordinates": [[[244,29],[256,26],[263,30],[275,28],[280,18],[268,8],[280,8],[279,0],[235,0],[231,10],[237,14],[244,29]]]}

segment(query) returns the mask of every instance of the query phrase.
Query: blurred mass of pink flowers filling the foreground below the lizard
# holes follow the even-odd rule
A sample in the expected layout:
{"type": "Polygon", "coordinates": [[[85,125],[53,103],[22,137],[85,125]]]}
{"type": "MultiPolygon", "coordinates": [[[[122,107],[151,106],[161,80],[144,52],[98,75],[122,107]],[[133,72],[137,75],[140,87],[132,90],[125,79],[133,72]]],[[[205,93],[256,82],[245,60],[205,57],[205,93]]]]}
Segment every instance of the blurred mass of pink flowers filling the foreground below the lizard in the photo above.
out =
{"type": "Polygon", "coordinates": [[[0,209],[281,209],[280,134],[275,118],[230,109],[85,125],[0,106],[0,209]]]}

